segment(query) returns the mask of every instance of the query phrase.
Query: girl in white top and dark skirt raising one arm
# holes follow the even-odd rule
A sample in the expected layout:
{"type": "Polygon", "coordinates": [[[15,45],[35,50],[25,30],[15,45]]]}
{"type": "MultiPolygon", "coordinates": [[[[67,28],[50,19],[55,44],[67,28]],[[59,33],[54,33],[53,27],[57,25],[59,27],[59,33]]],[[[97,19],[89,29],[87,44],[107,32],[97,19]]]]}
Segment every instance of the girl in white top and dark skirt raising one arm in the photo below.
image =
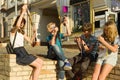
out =
{"type": "Polygon", "coordinates": [[[16,61],[20,65],[30,65],[33,70],[30,75],[29,80],[38,80],[38,76],[43,64],[43,61],[33,55],[30,55],[27,53],[27,51],[24,48],[24,39],[32,44],[35,36],[36,36],[36,30],[33,31],[33,37],[30,39],[27,37],[24,31],[26,20],[23,18],[24,14],[26,13],[27,5],[23,5],[21,9],[20,16],[18,16],[15,20],[15,23],[13,25],[13,28],[10,32],[10,41],[13,44],[14,37],[14,53],[16,54],[16,61]]]}

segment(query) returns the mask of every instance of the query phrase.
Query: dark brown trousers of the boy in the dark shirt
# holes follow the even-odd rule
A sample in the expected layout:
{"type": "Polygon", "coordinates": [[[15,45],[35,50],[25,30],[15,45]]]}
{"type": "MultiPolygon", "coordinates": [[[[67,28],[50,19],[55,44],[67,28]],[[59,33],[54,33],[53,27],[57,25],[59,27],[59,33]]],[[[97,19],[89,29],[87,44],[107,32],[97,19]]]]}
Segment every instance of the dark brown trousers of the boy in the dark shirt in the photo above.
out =
{"type": "Polygon", "coordinates": [[[73,78],[73,77],[80,77],[82,78],[82,74],[87,70],[90,62],[91,62],[91,59],[90,59],[90,56],[87,55],[87,56],[82,56],[81,53],[74,56],[73,58],[70,58],[69,59],[69,62],[71,63],[71,65],[73,66],[73,71],[69,70],[67,71],[68,75],[73,78]],[[74,65],[75,64],[80,64],[80,68],[79,70],[76,72],[74,70],[74,65]],[[75,73],[75,74],[74,74],[75,73]]]}

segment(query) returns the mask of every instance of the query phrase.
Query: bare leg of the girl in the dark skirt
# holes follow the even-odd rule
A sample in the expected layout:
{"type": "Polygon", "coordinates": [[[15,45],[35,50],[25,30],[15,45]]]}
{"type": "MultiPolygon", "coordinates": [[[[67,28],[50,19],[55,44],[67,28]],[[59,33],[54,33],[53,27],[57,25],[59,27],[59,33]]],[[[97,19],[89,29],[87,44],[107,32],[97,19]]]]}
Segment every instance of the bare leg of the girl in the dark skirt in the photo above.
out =
{"type": "Polygon", "coordinates": [[[35,61],[33,61],[30,65],[33,66],[33,71],[31,73],[30,79],[31,80],[38,80],[40,70],[42,68],[43,61],[39,58],[37,58],[35,61]]]}

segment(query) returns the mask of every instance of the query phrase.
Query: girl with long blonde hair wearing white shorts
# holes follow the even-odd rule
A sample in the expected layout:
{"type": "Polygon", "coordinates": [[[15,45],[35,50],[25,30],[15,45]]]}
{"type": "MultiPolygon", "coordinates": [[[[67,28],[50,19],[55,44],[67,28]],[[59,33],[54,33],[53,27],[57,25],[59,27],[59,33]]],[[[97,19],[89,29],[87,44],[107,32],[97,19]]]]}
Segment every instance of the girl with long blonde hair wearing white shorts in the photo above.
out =
{"type": "Polygon", "coordinates": [[[105,23],[103,35],[98,40],[101,45],[92,80],[105,80],[117,63],[119,37],[113,21],[105,23]]]}

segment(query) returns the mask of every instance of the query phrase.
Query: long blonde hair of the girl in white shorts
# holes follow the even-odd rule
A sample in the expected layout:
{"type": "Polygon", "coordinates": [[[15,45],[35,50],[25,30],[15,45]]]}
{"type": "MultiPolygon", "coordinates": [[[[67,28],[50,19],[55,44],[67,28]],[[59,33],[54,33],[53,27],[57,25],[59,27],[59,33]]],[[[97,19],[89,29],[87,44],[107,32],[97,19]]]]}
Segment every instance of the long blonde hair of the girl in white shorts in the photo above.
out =
{"type": "Polygon", "coordinates": [[[103,37],[108,42],[114,42],[115,37],[118,35],[117,26],[114,21],[108,21],[104,25],[103,37]]]}

